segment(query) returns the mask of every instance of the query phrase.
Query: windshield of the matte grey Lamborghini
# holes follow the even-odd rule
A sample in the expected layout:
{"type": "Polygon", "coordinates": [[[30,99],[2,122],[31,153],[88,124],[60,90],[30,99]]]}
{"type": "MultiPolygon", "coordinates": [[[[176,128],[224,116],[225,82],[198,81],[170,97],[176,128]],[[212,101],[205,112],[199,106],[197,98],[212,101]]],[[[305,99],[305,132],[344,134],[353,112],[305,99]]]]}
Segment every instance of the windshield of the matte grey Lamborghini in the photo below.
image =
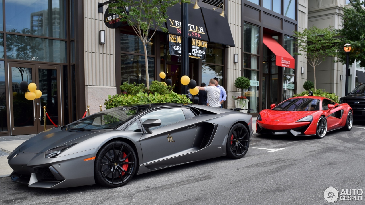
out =
{"type": "Polygon", "coordinates": [[[134,117],[136,114],[146,107],[115,107],[99,113],[82,118],[79,121],[67,125],[67,131],[74,130],[100,130],[100,129],[115,129],[134,117]]]}

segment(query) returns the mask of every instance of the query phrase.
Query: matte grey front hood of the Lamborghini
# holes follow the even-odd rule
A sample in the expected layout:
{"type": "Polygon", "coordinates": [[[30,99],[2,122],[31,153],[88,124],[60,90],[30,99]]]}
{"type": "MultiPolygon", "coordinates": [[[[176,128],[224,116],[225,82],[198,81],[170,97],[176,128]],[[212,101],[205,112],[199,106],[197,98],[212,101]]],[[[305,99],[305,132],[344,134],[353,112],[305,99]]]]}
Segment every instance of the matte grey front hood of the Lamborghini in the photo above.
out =
{"type": "Polygon", "coordinates": [[[20,145],[20,150],[24,153],[42,153],[55,147],[67,144],[74,139],[95,134],[101,130],[95,131],[66,131],[64,127],[56,127],[43,131],[28,139],[20,145]]]}

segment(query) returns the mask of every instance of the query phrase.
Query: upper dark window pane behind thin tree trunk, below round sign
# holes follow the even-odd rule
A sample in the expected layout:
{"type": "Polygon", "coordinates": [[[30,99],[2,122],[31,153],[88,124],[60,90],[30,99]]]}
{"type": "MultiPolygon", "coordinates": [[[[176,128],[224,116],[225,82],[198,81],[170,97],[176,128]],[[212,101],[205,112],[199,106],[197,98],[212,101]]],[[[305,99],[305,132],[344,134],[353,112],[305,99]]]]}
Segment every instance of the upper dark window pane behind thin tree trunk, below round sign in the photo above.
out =
{"type": "MultiPolygon", "coordinates": [[[[138,36],[120,33],[120,51],[144,54],[143,43],[138,36]]],[[[154,55],[153,38],[147,44],[147,55],[154,55]]]]}

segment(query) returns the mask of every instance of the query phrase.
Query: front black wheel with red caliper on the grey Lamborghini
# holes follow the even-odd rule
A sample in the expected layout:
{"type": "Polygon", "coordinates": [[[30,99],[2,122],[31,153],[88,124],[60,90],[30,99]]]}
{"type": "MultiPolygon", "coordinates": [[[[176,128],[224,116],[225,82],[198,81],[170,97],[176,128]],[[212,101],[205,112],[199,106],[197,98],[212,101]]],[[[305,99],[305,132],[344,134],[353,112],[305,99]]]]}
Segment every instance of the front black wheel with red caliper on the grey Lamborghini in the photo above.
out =
{"type": "Polygon", "coordinates": [[[102,186],[119,187],[134,176],[137,157],[130,145],[111,141],[100,148],[95,157],[95,181],[102,186]]]}

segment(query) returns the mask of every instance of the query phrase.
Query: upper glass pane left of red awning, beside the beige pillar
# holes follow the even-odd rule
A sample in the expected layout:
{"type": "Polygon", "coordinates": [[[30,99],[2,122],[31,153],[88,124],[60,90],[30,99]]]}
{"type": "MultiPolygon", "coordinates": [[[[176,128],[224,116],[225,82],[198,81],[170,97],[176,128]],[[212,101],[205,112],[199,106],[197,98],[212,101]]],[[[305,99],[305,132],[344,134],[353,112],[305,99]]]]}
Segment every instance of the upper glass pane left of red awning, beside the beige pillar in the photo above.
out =
{"type": "Polygon", "coordinates": [[[243,23],[243,51],[260,54],[260,27],[243,23]]]}

